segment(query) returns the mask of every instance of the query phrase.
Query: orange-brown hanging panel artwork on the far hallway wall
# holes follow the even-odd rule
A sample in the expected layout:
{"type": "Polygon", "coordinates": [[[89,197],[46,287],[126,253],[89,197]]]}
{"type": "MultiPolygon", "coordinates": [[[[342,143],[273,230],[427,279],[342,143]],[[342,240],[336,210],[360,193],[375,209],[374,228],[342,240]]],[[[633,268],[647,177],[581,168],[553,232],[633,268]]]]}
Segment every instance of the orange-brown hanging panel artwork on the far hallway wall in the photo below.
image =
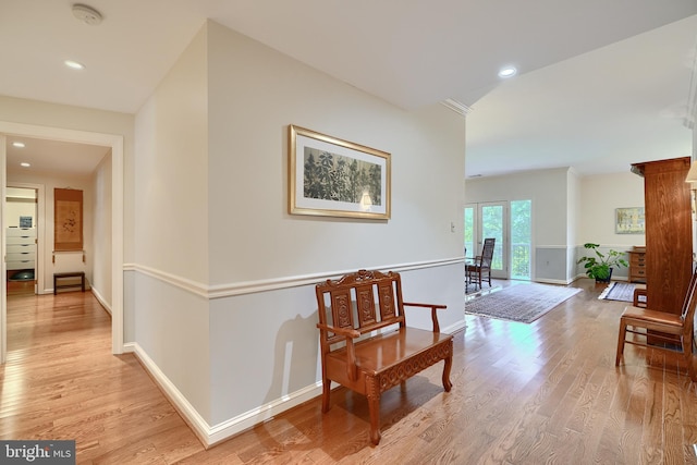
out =
{"type": "Polygon", "coordinates": [[[83,249],[83,192],[53,189],[53,249],[83,249]]]}

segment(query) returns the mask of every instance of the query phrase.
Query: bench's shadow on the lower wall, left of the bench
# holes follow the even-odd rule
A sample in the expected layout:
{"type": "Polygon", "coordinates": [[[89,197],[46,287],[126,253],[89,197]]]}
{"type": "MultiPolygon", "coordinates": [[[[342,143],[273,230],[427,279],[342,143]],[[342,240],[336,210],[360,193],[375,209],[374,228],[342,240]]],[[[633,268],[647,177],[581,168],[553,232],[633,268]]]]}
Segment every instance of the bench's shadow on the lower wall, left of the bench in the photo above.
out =
{"type": "Polygon", "coordinates": [[[319,354],[319,331],[315,323],[317,313],[307,318],[299,314],[281,325],[273,348],[273,374],[265,402],[315,383],[319,354]]]}

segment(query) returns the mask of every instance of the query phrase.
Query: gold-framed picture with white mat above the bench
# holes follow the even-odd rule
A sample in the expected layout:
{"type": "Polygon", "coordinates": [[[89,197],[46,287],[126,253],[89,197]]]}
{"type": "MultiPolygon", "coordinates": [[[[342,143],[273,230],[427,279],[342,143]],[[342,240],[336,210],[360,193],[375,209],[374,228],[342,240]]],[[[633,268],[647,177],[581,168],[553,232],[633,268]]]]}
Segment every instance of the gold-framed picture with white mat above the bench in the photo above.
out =
{"type": "Polygon", "coordinates": [[[390,218],[390,154],[289,126],[289,212],[390,218]]]}

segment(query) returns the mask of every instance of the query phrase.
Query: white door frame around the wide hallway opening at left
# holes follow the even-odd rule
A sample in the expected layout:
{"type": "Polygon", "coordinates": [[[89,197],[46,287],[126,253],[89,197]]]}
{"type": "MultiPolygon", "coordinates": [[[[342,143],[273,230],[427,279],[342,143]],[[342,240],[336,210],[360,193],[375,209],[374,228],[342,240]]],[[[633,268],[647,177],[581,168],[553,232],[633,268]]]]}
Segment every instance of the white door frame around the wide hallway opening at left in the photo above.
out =
{"type": "MultiPolygon", "coordinates": [[[[3,256],[5,250],[4,234],[4,198],[7,197],[7,136],[26,136],[61,140],[77,144],[100,145],[111,148],[111,352],[122,354],[123,347],[123,136],[88,131],[69,130],[54,126],[0,121],[0,194],[3,201],[0,206],[0,245],[3,256]]],[[[4,259],[0,266],[2,274],[7,274],[4,259]]],[[[7,280],[0,284],[0,363],[8,355],[8,290],[7,280]]]]}

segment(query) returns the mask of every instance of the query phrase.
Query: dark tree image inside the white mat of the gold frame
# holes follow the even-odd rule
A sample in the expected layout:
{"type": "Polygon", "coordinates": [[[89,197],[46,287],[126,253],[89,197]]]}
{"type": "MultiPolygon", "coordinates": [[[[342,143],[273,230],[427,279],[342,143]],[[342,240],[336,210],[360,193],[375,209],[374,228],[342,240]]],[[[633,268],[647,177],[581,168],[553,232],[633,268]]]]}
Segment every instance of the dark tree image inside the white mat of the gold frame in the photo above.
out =
{"type": "Polygon", "coordinates": [[[379,164],[307,146],[304,151],[305,198],[360,204],[368,194],[372,205],[382,205],[379,164]]]}

